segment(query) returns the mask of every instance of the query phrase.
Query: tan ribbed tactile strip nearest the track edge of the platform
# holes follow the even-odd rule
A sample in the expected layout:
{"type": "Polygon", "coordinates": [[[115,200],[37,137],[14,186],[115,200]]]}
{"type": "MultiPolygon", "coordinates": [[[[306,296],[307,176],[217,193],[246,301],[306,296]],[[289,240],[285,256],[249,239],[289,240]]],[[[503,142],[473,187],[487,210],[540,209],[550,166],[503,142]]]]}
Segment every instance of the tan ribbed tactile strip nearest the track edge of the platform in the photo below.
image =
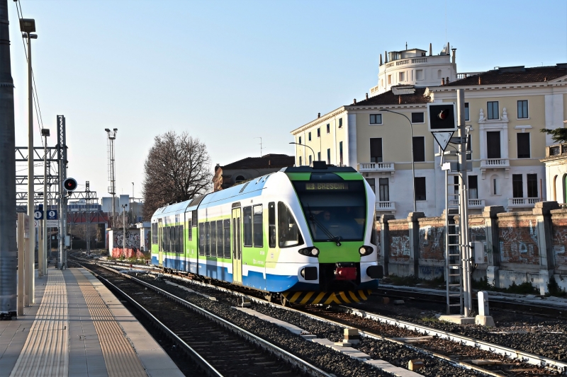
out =
{"type": "Polygon", "coordinates": [[[116,322],[116,318],[104,303],[94,286],[78,270],[72,269],[89,308],[96,334],[99,335],[102,354],[109,377],[147,376],[135,350],[116,322]]]}

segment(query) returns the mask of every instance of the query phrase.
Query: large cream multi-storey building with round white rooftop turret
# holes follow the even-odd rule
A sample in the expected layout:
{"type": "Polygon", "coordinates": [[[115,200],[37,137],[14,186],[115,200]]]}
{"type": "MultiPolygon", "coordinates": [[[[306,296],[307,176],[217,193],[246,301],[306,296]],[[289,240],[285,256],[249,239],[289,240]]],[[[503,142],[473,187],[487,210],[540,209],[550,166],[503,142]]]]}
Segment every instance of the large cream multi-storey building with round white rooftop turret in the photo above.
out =
{"type": "MultiPolygon", "coordinates": [[[[380,66],[374,95],[291,132],[296,143],[305,144],[296,146],[296,165],[317,158],[357,168],[376,192],[378,215],[408,216],[414,210],[415,187],[417,211],[439,216],[445,208],[447,182],[439,146],[427,131],[427,103],[456,102],[456,90],[463,89],[473,166],[468,172],[469,213],[480,213],[488,205],[502,205],[508,211],[533,208],[543,199],[541,189],[546,184],[540,159],[552,144],[539,129],[563,127],[567,64],[457,74],[455,53],[451,61],[447,50],[427,59],[408,55],[425,52],[417,49],[391,54],[393,60],[380,66]],[[436,85],[421,86],[434,81],[439,69],[448,76],[436,85]],[[419,70],[424,72],[423,80],[419,70]],[[398,81],[388,81],[390,74],[398,81]],[[384,88],[383,77],[389,85],[384,88]]],[[[456,178],[449,176],[449,183],[456,178]]]]}

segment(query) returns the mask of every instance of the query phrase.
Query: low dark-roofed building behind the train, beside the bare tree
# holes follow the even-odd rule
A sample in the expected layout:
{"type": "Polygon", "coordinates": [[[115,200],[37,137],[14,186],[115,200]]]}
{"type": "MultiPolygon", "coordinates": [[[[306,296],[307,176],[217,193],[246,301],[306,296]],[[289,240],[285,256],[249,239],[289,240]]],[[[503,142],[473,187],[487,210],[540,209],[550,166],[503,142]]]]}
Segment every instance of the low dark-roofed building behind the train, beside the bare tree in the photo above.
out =
{"type": "Polygon", "coordinates": [[[217,164],[213,175],[214,190],[223,190],[237,183],[293,166],[294,161],[293,156],[271,153],[262,157],[243,158],[225,166],[217,164]]]}

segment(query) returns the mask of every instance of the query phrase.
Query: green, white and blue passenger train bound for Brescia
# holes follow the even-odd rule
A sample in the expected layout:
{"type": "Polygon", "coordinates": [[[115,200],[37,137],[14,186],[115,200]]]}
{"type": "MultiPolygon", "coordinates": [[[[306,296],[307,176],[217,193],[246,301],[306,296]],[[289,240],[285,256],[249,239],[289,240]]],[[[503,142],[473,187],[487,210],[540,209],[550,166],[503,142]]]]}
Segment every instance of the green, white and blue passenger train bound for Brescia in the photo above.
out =
{"type": "Polygon", "coordinates": [[[282,168],[157,209],[151,262],[284,305],[364,301],[383,277],[375,201],[354,168],[282,168]]]}

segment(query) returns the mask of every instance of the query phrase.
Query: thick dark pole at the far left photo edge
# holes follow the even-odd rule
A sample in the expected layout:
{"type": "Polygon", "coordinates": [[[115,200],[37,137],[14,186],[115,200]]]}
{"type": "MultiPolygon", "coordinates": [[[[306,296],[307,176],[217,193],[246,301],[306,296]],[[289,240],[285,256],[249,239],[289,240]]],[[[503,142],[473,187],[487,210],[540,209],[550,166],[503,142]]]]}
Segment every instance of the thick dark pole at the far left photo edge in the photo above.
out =
{"type": "Polygon", "coordinates": [[[0,1],[0,320],[16,318],[16,149],[8,1],[0,1]]]}

